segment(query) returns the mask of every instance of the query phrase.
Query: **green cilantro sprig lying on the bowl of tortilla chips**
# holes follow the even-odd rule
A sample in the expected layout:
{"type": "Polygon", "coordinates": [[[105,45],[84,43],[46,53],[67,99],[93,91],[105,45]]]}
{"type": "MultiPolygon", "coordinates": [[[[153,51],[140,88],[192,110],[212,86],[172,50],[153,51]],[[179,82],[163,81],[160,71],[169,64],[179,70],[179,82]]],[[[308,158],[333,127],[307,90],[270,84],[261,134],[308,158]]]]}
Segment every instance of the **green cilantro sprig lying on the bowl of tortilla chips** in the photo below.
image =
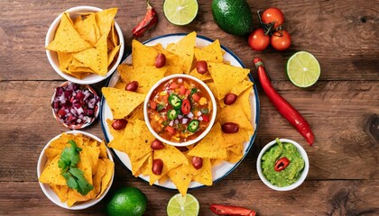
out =
{"type": "Polygon", "coordinates": [[[81,148],[77,146],[74,140],[69,140],[70,147],[63,149],[60,154],[58,166],[60,167],[60,175],[66,179],[69,188],[77,190],[80,194],[86,195],[94,186],[89,184],[84,177],[84,172],[77,165],[80,161],[79,152],[81,148]]]}

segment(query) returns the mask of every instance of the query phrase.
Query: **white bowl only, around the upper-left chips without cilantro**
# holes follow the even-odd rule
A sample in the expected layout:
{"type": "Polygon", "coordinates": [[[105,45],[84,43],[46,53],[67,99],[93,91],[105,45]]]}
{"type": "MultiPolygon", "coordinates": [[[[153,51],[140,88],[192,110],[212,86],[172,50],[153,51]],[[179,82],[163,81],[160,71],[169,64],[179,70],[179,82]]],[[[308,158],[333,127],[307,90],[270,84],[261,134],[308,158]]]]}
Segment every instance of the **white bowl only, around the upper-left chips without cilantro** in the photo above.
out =
{"type": "MultiPolygon", "coordinates": [[[[67,10],[66,12],[69,12],[70,17],[73,20],[73,19],[75,19],[78,16],[78,13],[98,12],[98,11],[102,11],[102,9],[100,9],[98,7],[94,7],[94,6],[77,6],[77,7],[69,8],[69,10],[67,10]]],[[[47,34],[46,34],[45,46],[48,46],[49,43],[51,42],[51,40],[54,40],[55,31],[57,30],[57,28],[58,28],[58,26],[60,24],[61,17],[62,17],[62,14],[60,14],[51,23],[51,26],[50,26],[49,30],[47,31],[47,34]]],[[[58,61],[57,52],[51,51],[49,49],[46,49],[46,55],[47,55],[47,57],[49,59],[51,67],[54,68],[55,72],[57,72],[60,76],[62,76],[66,80],[69,80],[69,81],[74,82],[74,83],[78,83],[78,84],[96,84],[96,83],[98,83],[100,81],[103,81],[108,76],[111,76],[113,74],[113,72],[115,72],[117,66],[120,64],[121,59],[123,58],[123,55],[124,55],[124,49],[125,49],[124,44],[125,44],[125,42],[124,42],[123,31],[121,31],[121,29],[118,26],[118,24],[116,23],[116,21],[115,21],[115,28],[116,28],[116,31],[117,31],[118,40],[119,40],[119,43],[121,44],[121,47],[120,47],[120,50],[118,50],[118,56],[116,58],[116,61],[114,61],[113,65],[111,65],[110,69],[106,73],[106,76],[100,76],[100,75],[97,75],[97,74],[91,74],[89,76],[84,77],[83,79],[79,79],[77,77],[70,76],[70,75],[68,75],[66,73],[63,73],[60,70],[60,65],[59,65],[59,61],[58,61]]]]}

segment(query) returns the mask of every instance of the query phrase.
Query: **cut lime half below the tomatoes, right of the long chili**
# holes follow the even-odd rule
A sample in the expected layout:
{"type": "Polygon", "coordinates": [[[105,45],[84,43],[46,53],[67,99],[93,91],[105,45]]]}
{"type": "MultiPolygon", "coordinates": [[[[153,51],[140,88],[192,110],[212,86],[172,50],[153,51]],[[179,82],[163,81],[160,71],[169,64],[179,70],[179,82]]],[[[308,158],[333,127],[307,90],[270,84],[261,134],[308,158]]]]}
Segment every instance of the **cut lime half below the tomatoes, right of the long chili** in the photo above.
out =
{"type": "Polygon", "coordinates": [[[287,61],[287,75],[298,87],[315,84],[320,73],[319,61],[307,51],[298,51],[287,61]]]}

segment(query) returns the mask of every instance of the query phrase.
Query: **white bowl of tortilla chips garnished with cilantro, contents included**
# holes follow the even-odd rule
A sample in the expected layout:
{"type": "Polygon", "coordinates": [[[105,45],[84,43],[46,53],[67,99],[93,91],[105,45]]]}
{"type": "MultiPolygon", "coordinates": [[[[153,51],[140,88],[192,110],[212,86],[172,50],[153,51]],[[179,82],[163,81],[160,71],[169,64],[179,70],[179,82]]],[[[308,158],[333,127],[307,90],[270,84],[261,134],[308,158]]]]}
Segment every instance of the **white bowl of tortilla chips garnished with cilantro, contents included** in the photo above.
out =
{"type": "Polygon", "coordinates": [[[37,175],[43,193],[58,206],[81,210],[101,201],[115,175],[105,142],[71,130],[51,139],[38,159],[37,175]]]}

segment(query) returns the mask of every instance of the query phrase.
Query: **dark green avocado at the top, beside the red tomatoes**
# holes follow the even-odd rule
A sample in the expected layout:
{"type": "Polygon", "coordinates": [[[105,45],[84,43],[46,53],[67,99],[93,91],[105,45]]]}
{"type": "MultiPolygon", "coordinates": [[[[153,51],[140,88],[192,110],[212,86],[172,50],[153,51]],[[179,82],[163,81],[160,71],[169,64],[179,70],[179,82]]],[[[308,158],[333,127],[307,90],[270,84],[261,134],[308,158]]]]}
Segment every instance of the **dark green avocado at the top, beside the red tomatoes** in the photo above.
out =
{"type": "Polygon", "coordinates": [[[213,0],[213,20],[227,33],[244,36],[253,29],[252,12],[245,0],[213,0]]]}

